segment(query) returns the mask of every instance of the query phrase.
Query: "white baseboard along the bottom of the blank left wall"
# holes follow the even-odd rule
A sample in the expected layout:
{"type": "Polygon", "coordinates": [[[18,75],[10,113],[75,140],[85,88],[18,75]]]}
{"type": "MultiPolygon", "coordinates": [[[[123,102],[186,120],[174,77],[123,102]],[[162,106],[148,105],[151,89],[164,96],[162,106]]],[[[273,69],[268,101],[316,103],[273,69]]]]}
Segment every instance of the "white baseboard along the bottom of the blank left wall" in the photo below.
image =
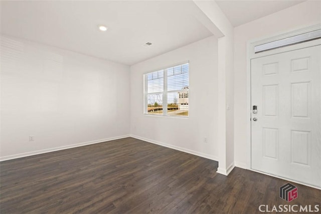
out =
{"type": "Polygon", "coordinates": [[[110,140],[117,140],[121,138],[129,137],[129,134],[126,135],[121,135],[121,136],[116,136],[116,137],[109,137],[105,139],[100,139],[100,140],[93,140],[93,141],[87,141],[83,143],[76,143],[76,144],[71,144],[71,145],[66,145],[66,146],[59,146],[55,148],[50,148],[50,149],[42,149],[42,150],[37,150],[37,151],[31,151],[31,152],[26,152],[26,153],[20,153],[20,154],[13,154],[13,155],[8,155],[4,157],[0,157],[0,161],[5,161],[5,160],[11,160],[11,159],[16,159],[20,157],[27,157],[27,156],[32,156],[36,154],[43,154],[47,152],[53,152],[53,151],[59,151],[63,149],[70,149],[70,148],[75,148],[79,146],[85,146],[85,145],[90,145],[90,144],[95,144],[95,143],[102,143],[110,140]]]}

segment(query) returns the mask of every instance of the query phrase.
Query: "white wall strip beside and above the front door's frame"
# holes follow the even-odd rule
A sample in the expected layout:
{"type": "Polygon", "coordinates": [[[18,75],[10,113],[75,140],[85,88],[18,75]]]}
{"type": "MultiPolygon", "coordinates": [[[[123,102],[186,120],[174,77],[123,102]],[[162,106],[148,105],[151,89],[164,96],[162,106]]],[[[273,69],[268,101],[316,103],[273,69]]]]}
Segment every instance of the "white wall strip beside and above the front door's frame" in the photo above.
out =
{"type": "Polygon", "coordinates": [[[235,164],[246,168],[246,44],[256,38],[284,33],[321,22],[321,2],[307,1],[234,28],[234,150],[235,164]]]}

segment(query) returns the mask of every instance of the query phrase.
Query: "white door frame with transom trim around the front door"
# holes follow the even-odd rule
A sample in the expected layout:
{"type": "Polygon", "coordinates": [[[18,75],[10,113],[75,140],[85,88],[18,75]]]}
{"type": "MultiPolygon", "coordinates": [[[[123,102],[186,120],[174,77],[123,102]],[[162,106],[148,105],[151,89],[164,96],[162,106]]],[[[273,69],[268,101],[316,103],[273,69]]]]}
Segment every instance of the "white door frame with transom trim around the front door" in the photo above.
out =
{"type": "Polygon", "coordinates": [[[265,56],[269,56],[269,55],[274,55],[274,54],[294,51],[294,50],[298,50],[298,49],[302,49],[302,48],[308,48],[308,47],[312,47],[312,46],[316,46],[316,45],[321,45],[321,39],[303,42],[303,43],[299,43],[296,45],[285,46],[282,48],[272,49],[272,50],[264,51],[264,52],[257,53],[257,54],[254,53],[254,47],[257,45],[262,45],[265,43],[285,39],[288,37],[296,36],[299,34],[307,33],[310,31],[315,31],[315,30],[319,30],[319,29],[321,29],[321,23],[310,25],[310,26],[307,26],[304,28],[300,27],[300,28],[292,29],[290,31],[281,32],[278,34],[274,34],[274,35],[270,35],[270,36],[266,36],[266,37],[262,37],[262,38],[253,39],[253,40],[250,40],[247,42],[247,46],[246,46],[246,49],[247,49],[246,50],[246,166],[243,166],[243,167],[248,170],[251,170],[251,171],[256,171],[256,172],[259,172],[262,174],[270,175],[273,177],[278,177],[281,179],[290,180],[290,181],[300,183],[300,184],[303,184],[306,186],[311,186],[314,188],[321,189],[321,187],[309,185],[309,184],[306,184],[303,182],[298,182],[296,180],[291,180],[288,178],[284,178],[284,177],[277,176],[274,174],[269,174],[269,173],[258,171],[258,170],[251,168],[251,113],[252,113],[251,112],[251,60],[255,59],[255,58],[260,58],[260,57],[265,57],[265,56]]]}

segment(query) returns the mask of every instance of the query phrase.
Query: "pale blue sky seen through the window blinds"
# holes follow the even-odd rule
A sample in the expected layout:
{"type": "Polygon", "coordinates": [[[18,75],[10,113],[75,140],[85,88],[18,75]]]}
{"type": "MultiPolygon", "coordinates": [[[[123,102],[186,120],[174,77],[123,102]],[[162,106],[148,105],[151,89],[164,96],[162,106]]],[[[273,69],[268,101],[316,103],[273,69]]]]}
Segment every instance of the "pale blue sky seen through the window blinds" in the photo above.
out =
{"type": "Polygon", "coordinates": [[[189,86],[189,64],[183,64],[164,70],[147,74],[147,96],[148,105],[163,104],[164,72],[167,72],[168,104],[178,103],[179,93],[184,87],[189,86]]]}

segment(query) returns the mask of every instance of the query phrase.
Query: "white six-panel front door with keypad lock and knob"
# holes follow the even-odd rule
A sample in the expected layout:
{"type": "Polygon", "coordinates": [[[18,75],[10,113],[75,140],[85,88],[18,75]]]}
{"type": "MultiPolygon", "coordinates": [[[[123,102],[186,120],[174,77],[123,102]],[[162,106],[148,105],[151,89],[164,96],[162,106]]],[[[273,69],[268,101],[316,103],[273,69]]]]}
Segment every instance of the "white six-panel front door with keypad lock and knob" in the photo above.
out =
{"type": "Polygon", "coordinates": [[[252,169],[321,187],[320,62],[321,46],[251,60],[252,169]]]}

